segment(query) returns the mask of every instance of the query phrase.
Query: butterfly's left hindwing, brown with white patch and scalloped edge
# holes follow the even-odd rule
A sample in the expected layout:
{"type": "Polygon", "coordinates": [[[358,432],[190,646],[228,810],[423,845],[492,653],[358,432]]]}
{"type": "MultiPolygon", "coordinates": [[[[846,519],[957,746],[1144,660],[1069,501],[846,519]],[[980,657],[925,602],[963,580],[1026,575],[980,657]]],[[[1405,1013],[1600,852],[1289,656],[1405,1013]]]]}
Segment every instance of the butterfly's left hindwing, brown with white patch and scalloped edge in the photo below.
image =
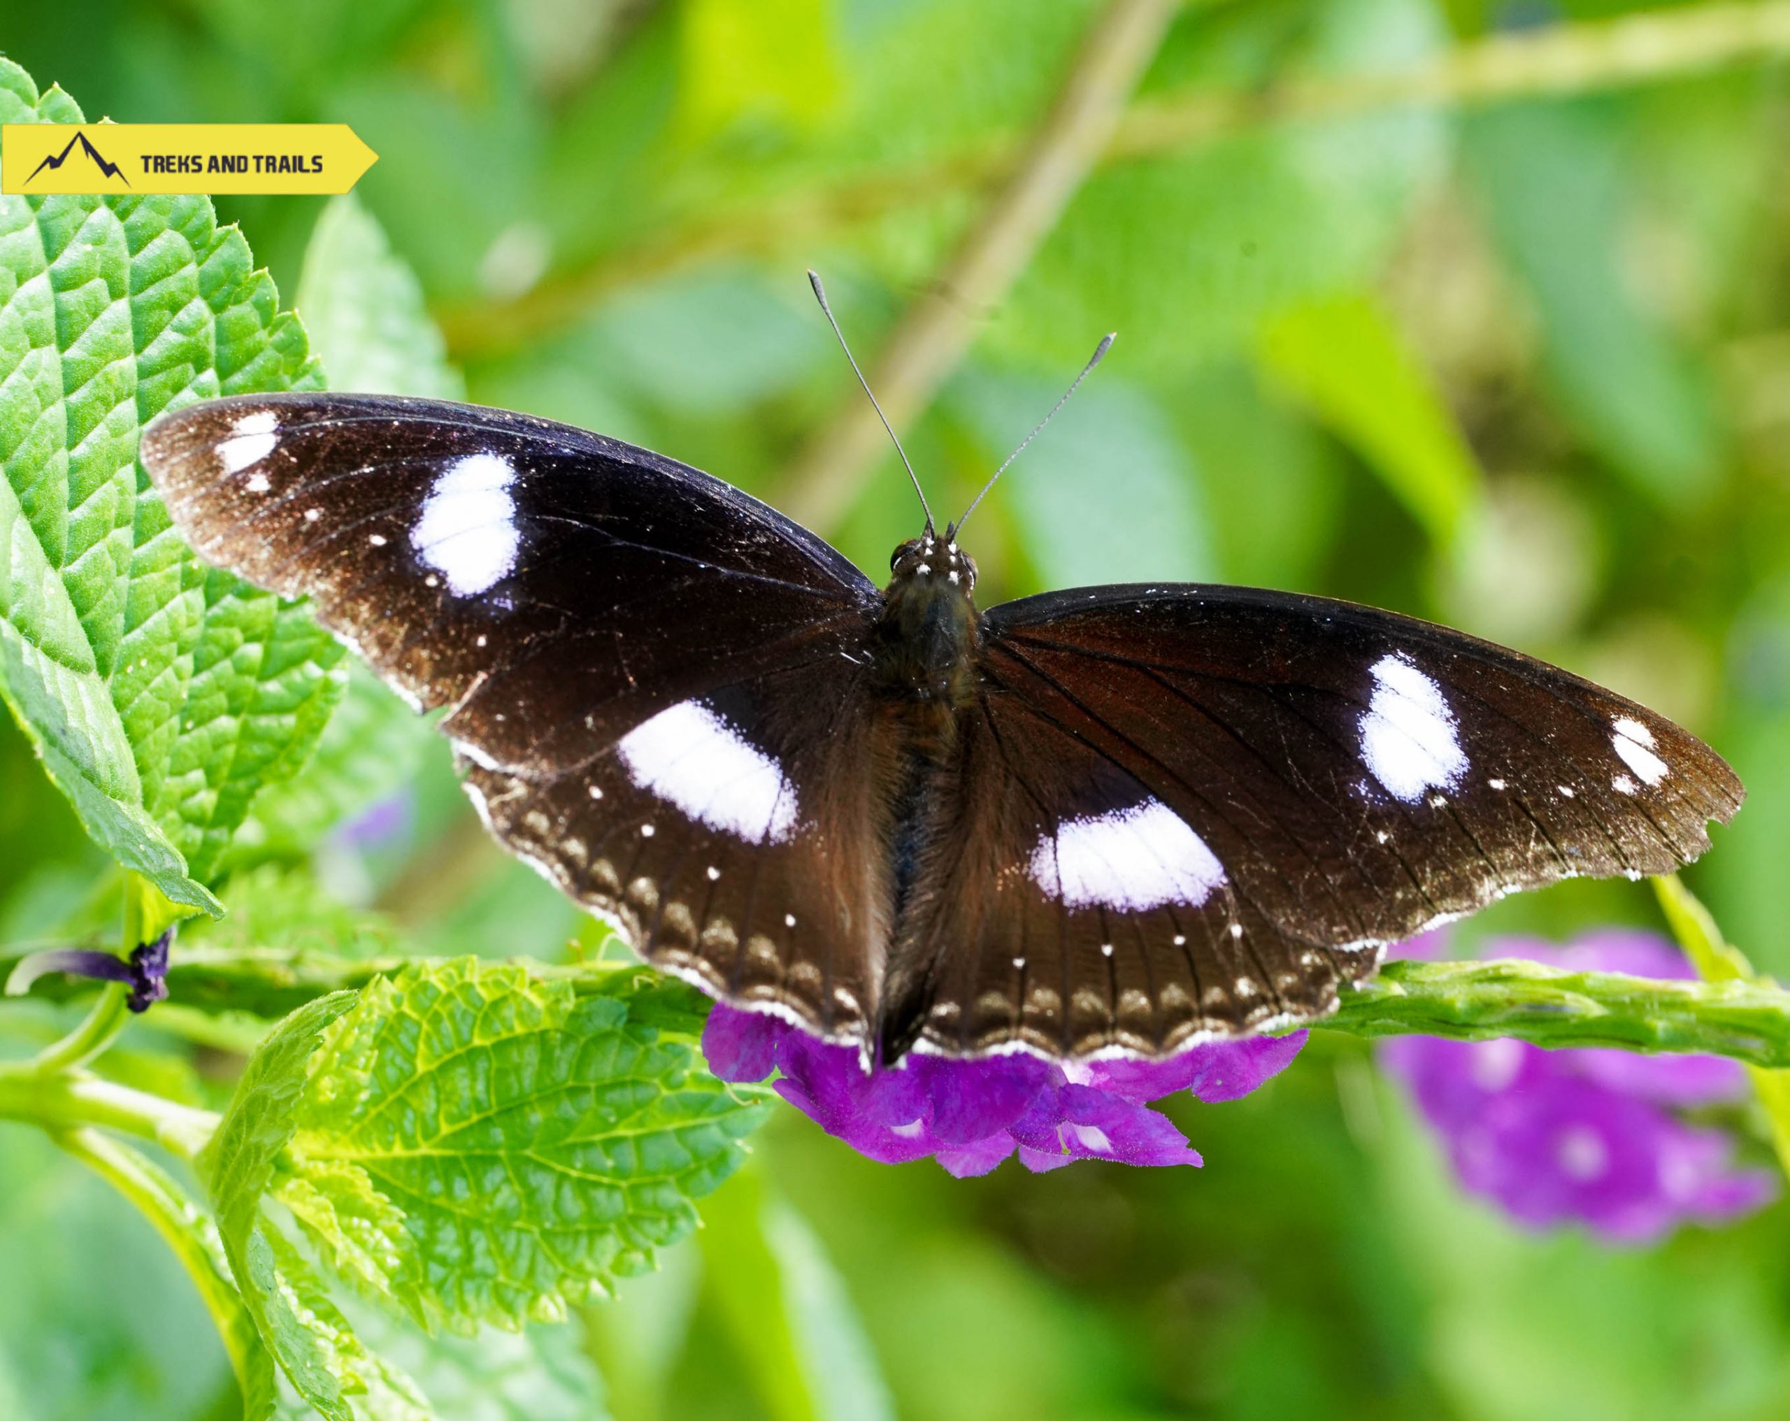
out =
{"type": "Polygon", "coordinates": [[[465,766],[482,816],[648,961],[861,1042],[888,934],[861,671],[680,702],[564,773],[465,766]]]}

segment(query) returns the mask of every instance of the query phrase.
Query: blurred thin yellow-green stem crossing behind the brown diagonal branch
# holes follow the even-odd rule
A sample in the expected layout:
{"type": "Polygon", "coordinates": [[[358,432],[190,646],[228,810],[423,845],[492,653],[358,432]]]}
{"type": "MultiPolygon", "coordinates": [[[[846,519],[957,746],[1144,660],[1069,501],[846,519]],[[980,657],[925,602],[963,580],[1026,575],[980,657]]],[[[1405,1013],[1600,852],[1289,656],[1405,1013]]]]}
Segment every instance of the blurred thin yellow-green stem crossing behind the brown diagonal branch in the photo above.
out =
{"type": "MultiPolygon", "coordinates": [[[[1559,23],[1459,45],[1378,73],[1292,75],[1264,91],[1198,89],[1140,102],[1095,163],[1183,152],[1274,123],[1396,109],[1466,109],[1652,84],[1790,54],[1790,0],[1720,4],[1559,23]]],[[[610,292],[703,261],[814,245],[882,215],[976,191],[1011,172],[1024,141],[997,136],[929,163],[779,193],[661,227],[508,302],[440,311],[455,356],[514,349],[576,322],[610,292]]]]}

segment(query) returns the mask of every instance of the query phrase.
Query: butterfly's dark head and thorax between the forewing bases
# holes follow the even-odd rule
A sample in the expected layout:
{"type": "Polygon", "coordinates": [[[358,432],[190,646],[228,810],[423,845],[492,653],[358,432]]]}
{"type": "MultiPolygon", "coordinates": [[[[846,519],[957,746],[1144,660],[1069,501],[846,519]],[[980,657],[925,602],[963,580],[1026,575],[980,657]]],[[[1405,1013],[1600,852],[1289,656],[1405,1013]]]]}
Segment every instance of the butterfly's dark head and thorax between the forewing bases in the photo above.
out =
{"type": "Polygon", "coordinates": [[[875,666],[895,700],[958,710],[976,698],[979,642],[976,564],[936,533],[909,539],[890,558],[875,666]]]}

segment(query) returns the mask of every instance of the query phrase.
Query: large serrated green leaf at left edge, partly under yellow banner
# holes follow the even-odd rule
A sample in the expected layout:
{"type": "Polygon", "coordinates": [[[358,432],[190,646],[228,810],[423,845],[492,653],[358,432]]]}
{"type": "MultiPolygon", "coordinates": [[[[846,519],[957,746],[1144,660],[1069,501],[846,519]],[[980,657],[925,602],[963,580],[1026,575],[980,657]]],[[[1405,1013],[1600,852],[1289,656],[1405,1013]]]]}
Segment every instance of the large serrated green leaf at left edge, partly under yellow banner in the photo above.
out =
{"type": "MultiPolygon", "coordinates": [[[[0,122],[81,111],[0,59],[0,122]]],[[[204,884],[315,745],[342,651],[193,558],[138,430],[317,374],[209,200],[0,197],[0,696],[93,839],[190,907],[217,911],[204,884]]]]}

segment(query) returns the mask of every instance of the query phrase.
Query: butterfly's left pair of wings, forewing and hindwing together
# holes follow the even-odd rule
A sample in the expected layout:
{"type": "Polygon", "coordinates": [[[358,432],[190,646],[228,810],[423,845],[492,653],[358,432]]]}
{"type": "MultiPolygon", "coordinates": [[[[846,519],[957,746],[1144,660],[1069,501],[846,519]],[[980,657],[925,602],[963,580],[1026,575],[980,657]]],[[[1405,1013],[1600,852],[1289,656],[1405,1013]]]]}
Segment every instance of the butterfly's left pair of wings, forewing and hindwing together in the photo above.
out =
{"type": "Polygon", "coordinates": [[[435,401],[211,401],[143,462],[200,555],[446,709],[510,848],[711,990],[859,1029],[875,836],[829,732],[868,719],[879,600],[825,542],[644,449],[435,401]]]}

